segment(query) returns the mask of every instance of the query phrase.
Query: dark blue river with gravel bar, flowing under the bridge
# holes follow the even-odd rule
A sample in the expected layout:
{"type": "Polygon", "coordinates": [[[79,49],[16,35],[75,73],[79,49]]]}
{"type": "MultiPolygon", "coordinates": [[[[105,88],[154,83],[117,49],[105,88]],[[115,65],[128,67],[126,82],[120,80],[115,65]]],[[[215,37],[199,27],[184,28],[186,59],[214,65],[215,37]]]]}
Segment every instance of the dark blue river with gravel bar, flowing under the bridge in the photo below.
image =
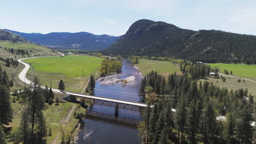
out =
{"type": "MultiPolygon", "coordinates": [[[[107,77],[102,77],[96,81],[95,95],[123,99],[130,101],[139,101],[138,90],[141,86],[143,76],[139,71],[132,67],[131,61],[123,61],[122,73],[107,77]],[[121,82],[115,82],[118,79],[126,77],[135,78],[128,81],[126,86],[122,86],[121,82]]],[[[124,121],[117,121],[114,117],[114,107],[92,105],[89,112],[98,113],[97,116],[86,116],[83,120],[84,124],[80,127],[78,133],[78,143],[140,143],[138,139],[138,130],[136,124],[124,121]],[[111,117],[111,118],[108,118],[111,117]],[[114,118],[113,118],[114,117],[114,118]]],[[[119,109],[119,117],[127,117],[132,119],[141,119],[141,113],[130,110],[119,109]]]]}

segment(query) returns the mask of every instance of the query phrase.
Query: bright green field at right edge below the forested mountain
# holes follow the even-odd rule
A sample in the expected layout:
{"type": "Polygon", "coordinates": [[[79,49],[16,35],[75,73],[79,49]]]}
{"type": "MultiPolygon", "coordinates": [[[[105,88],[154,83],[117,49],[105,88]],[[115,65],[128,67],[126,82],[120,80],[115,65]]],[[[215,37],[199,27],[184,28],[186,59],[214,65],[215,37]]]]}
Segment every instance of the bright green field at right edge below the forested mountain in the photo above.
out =
{"type": "Polygon", "coordinates": [[[240,77],[247,77],[256,79],[256,64],[224,64],[224,63],[211,63],[211,67],[219,67],[220,72],[224,73],[224,70],[228,70],[229,73],[232,70],[233,75],[240,77]]]}

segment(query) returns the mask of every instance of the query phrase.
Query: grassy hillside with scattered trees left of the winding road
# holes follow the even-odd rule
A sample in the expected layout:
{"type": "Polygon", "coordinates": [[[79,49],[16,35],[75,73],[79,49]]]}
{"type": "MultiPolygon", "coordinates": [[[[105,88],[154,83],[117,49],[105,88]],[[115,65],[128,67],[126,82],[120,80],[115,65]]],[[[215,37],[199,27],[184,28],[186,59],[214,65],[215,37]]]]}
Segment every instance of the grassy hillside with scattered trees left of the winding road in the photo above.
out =
{"type": "Polygon", "coordinates": [[[52,49],[38,44],[33,44],[20,35],[0,29],[0,66],[6,70],[9,80],[12,80],[14,89],[24,87],[23,82],[18,79],[18,74],[24,65],[18,63],[18,59],[32,56],[55,56],[57,55],[52,49]],[[10,62],[8,64],[8,61],[10,62]]]}

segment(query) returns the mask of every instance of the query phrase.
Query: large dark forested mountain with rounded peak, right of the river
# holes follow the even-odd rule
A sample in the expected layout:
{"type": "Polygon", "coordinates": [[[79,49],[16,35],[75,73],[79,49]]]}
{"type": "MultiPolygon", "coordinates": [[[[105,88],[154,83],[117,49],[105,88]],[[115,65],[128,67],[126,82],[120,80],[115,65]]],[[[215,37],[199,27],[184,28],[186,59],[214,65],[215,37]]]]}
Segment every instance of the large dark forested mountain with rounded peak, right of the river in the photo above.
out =
{"type": "Polygon", "coordinates": [[[208,63],[256,63],[256,36],[216,30],[191,31],[166,22],[139,20],[101,52],[208,63]]]}

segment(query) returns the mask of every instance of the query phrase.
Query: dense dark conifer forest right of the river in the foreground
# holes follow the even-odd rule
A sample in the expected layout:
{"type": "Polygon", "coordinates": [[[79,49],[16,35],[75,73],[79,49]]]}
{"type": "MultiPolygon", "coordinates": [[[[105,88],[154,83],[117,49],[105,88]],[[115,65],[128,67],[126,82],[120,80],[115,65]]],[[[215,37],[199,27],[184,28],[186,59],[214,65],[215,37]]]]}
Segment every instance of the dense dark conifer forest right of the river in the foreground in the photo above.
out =
{"type": "Polygon", "coordinates": [[[183,75],[165,79],[152,71],[142,79],[141,99],[154,105],[138,127],[142,143],[253,143],[253,96],[246,89],[197,83],[213,71],[208,65],[184,63],[181,69],[183,75]]]}

